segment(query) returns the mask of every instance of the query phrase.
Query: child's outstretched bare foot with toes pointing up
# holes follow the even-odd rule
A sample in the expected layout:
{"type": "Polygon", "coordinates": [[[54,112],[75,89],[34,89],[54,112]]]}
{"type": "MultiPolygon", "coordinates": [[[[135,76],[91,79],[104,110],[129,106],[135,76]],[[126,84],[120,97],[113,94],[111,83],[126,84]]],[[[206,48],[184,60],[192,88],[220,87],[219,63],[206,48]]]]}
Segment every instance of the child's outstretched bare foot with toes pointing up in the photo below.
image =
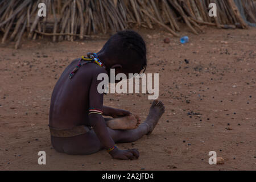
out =
{"type": "Polygon", "coordinates": [[[155,100],[150,107],[147,119],[142,123],[148,126],[148,135],[152,133],[159,119],[162,117],[163,113],[163,102],[155,100]]]}

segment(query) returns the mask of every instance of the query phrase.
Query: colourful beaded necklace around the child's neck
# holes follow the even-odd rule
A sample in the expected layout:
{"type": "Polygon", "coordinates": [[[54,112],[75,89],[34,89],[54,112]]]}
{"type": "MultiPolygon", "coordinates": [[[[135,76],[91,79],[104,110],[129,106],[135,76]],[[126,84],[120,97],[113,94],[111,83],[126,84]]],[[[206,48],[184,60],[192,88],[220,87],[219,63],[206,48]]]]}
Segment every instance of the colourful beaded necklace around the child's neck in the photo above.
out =
{"type": "Polygon", "coordinates": [[[98,58],[97,53],[88,53],[87,56],[88,57],[85,57],[85,56],[81,57],[81,59],[79,60],[79,64],[77,64],[76,68],[74,68],[73,71],[71,73],[69,73],[69,76],[68,76],[69,79],[71,79],[75,75],[75,73],[79,70],[79,68],[84,64],[95,63],[95,64],[99,65],[100,67],[105,68],[104,64],[98,58]],[[82,60],[84,60],[86,62],[81,63],[82,60]]]}

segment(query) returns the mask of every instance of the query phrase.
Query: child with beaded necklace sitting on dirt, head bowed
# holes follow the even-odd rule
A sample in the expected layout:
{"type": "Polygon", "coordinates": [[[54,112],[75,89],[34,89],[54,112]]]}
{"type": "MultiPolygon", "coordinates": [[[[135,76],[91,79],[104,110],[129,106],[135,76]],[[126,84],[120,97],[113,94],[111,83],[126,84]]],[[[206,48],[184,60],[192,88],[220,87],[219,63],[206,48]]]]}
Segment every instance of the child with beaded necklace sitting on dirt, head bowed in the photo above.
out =
{"type": "Polygon", "coordinates": [[[139,152],[120,150],[115,143],[134,142],[150,134],[164,113],[163,103],[154,101],[146,120],[140,123],[129,111],[103,105],[97,91],[100,73],[140,73],[146,69],[146,45],[134,31],[113,35],[100,52],[88,53],[65,69],[52,92],[49,129],[52,146],[71,155],[93,154],[105,148],[113,159],[138,159],[139,152]],[[113,117],[104,118],[102,115],[113,117]]]}

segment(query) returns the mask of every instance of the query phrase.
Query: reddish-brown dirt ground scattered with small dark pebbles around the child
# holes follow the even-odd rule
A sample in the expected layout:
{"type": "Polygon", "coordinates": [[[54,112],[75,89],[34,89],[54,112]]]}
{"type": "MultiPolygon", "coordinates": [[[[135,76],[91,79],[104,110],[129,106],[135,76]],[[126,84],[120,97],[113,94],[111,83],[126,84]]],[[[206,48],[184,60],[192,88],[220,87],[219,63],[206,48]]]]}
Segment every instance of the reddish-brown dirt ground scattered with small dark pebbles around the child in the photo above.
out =
{"type": "MultiPolygon", "coordinates": [[[[0,169],[3,170],[255,170],[256,29],[186,30],[180,44],[164,30],[140,30],[148,49],[146,73],[159,73],[166,113],[150,136],[119,148],[138,148],[138,160],[113,160],[106,151],[88,156],[56,152],[48,111],[61,72],[75,58],[99,51],[106,39],[52,43],[23,40],[0,46],[0,169]],[[163,42],[170,38],[170,44],[163,42]],[[187,63],[184,61],[187,59],[187,63]],[[47,164],[38,164],[46,151],[47,164]],[[209,151],[225,164],[209,165],[209,151]]],[[[105,105],[146,118],[146,94],[108,94],[105,105]]]]}

